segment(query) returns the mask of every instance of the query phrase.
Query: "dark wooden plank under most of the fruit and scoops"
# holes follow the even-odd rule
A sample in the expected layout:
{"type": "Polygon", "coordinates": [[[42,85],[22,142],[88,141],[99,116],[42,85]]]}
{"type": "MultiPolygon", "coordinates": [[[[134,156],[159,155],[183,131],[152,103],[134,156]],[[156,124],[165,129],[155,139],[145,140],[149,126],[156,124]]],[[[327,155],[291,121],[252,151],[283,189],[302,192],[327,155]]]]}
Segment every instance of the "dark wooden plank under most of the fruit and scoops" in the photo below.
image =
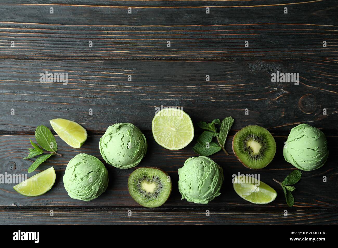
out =
{"type": "MultiPolygon", "coordinates": [[[[338,208],[338,192],[335,189],[338,180],[338,170],[334,158],[335,150],[337,150],[337,136],[327,136],[329,143],[330,156],[327,163],[320,169],[314,171],[304,171],[301,181],[296,185],[296,190],[293,192],[295,198],[295,206],[288,208],[284,198],[282,188],[275,182],[283,180],[295,168],[284,161],[282,150],[286,140],[286,136],[275,135],[277,143],[277,151],[274,160],[266,168],[252,171],[245,168],[233,155],[231,149],[231,141],[234,132],[231,133],[226,143],[226,149],[230,156],[225,156],[219,152],[212,155],[210,158],[222,166],[224,170],[224,183],[221,188],[221,195],[211,201],[208,205],[195,204],[181,200],[181,195],[178,192],[178,168],[184,165],[184,162],[189,157],[198,156],[192,151],[192,146],[196,142],[196,137],[190,145],[178,151],[170,151],[156,144],[151,133],[145,132],[148,142],[148,153],[139,166],[159,167],[168,172],[172,179],[173,189],[170,198],[163,205],[166,209],[185,209],[198,208],[205,210],[232,210],[232,211],[279,211],[288,210],[304,210],[304,209],[322,209],[332,210],[337,212],[338,208]],[[278,196],[276,200],[267,205],[251,204],[240,198],[231,183],[232,175],[237,173],[243,174],[259,174],[260,180],[269,184],[276,189],[278,196]],[[327,182],[323,183],[323,176],[327,176],[327,182]]],[[[56,137],[58,144],[58,153],[62,157],[53,156],[46,163],[39,166],[37,171],[27,173],[27,169],[33,160],[22,160],[27,156],[27,148],[30,146],[29,138],[34,139],[33,135],[1,135],[0,136],[0,159],[2,161],[1,173],[7,174],[28,174],[28,177],[42,170],[53,166],[56,171],[56,182],[53,188],[42,196],[26,197],[18,194],[12,187],[15,184],[0,184],[0,206],[8,207],[17,205],[19,207],[27,206],[48,206],[48,207],[124,207],[124,208],[139,208],[138,204],[129,196],[127,188],[127,180],[129,174],[134,169],[122,170],[105,164],[109,173],[109,185],[105,193],[97,199],[85,202],[70,198],[67,191],[64,189],[62,177],[65,172],[67,163],[78,153],[87,153],[98,157],[102,162],[103,159],[98,149],[99,138],[101,135],[90,135],[86,143],[80,149],[73,149],[64,143],[59,137],[56,137]]]]}

